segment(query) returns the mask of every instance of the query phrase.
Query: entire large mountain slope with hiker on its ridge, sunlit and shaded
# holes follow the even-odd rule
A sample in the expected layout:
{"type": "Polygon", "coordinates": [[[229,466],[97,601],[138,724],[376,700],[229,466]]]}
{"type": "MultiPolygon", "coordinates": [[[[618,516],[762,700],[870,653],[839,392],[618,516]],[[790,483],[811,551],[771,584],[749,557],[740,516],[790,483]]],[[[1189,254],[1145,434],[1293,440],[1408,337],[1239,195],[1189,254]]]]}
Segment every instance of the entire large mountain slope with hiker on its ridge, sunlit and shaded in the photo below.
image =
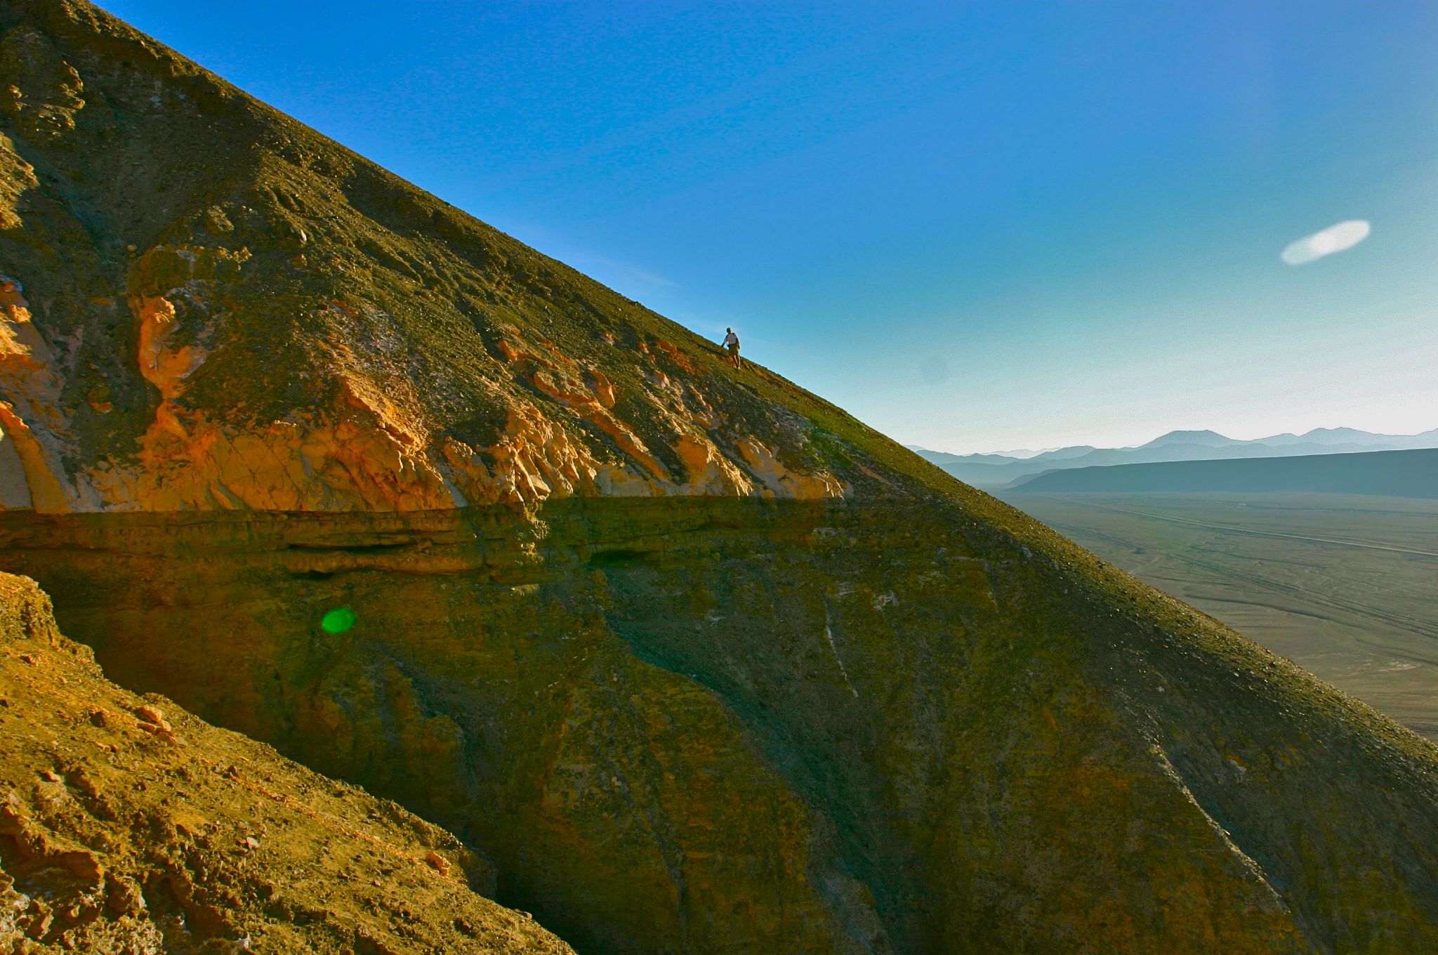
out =
{"type": "Polygon", "coordinates": [[[580,951],[1438,943],[1429,744],[93,7],[0,27],[0,565],[114,679],[580,951]]]}

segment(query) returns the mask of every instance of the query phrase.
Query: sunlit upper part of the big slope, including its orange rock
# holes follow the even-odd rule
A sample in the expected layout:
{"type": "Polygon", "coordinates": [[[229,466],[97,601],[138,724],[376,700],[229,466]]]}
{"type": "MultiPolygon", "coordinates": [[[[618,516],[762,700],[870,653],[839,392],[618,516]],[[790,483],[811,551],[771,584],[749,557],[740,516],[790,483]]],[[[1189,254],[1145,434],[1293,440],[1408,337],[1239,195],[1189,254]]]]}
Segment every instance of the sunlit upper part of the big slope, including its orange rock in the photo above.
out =
{"type": "Polygon", "coordinates": [[[0,91],[4,506],[830,498],[863,479],[837,410],[731,374],[713,344],[93,7],[7,4],[0,91]]]}

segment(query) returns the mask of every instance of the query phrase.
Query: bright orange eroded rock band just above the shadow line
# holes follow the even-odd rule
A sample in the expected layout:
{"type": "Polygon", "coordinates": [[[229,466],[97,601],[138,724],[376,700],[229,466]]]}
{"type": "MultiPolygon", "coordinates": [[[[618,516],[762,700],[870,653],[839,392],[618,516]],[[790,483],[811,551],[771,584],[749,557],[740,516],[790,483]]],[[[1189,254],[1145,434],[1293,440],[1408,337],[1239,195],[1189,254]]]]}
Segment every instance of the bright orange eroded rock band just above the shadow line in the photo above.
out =
{"type": "MultiPolygon", "coordinates": [[[[30,326],[17,285],[7,282],[4,295],[0,380],[17,396],[0,401],[4,508],[431,511],[567,496],[846,495],[833,473],[787,466],[756,437],[723,433],[723,416],[700,388],[654,370],[656,388],[646,398],[676,434],[676,473],[614,411],[620,396],[603,371],[581,368],[558,349],[509,339],[500,354],[536,394],[509,406],[499,440],[487,446],[431,433],[413,407],[345,370],[335,373],[332,407],[236,427],[223,411],[186,403],[186,381],[209,352],[201,341],[174,341],[175,305],[165,296],[131,302],[135,367],[160,397],[135,453],[66,470],[63,453],[73,440],[59,401],[60,370],[30,326]],[[722,449],[726,437],[729,447],[722,449]]],[[[667,342],[661,351],[679,354],[667,342]]],[[[689,365],[679,357],[677,364],[689,365]]]]}

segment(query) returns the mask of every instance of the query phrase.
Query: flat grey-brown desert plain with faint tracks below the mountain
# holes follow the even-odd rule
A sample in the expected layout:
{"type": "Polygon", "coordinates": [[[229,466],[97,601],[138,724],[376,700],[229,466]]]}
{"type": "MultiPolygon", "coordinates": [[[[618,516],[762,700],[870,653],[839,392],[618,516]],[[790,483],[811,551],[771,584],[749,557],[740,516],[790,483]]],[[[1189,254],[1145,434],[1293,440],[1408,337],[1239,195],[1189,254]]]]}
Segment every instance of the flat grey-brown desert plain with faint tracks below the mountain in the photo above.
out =
{"type": "Polygon", "coordinates": [[[1438,739],[1434,502],[1083,493],[1011,502],[1438,739]]]}

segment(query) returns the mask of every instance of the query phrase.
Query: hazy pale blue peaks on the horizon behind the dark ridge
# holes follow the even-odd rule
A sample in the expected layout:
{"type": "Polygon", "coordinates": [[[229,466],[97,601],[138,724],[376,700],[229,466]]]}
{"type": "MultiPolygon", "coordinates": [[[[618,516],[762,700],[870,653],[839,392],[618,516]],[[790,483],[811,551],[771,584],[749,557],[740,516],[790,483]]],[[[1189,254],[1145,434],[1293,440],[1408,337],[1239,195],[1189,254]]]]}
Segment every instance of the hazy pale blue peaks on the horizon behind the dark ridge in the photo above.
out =
{"type": "Polygon", "coordinates": [[[1274,434],[1252,440],[1225,437],[1218,431],[1169,431],[1137,447],[1091,447],[1077,444],[1015,454],[951,454],[910,444],[910,450],[975,488],[1007,488],[1048,470],[1104,467],[1182,460],[1227,460],[1237,457],[1296,457],[1303,454],[1350,454],[1379,450],[1438,447],[1438,429],[1422,434],[1373,434],[1352,427],[1319,427],[1304,434],[1274,434]]]}

